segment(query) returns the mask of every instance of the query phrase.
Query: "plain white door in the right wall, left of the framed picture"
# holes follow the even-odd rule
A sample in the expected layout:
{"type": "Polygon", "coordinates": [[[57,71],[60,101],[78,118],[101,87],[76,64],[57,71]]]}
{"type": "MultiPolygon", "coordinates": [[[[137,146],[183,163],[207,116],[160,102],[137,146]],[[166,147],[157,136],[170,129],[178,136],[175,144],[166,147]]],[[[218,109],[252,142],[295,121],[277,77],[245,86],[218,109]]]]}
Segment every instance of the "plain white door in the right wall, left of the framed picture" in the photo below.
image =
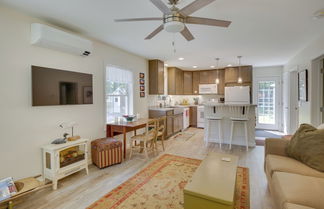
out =
{"type": "Polygon", "coordinates": [[[298,74],[296,71],[283,74],[283,131],[294,133],[299,124],[298,74]]]}

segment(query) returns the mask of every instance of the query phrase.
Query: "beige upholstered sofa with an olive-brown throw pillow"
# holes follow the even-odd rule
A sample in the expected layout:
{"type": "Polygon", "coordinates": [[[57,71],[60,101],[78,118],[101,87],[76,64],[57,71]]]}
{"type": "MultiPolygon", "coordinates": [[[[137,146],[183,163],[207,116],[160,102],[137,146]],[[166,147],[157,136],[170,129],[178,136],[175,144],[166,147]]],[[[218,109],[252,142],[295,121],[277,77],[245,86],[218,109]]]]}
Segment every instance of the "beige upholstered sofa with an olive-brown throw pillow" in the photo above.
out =
{"type": "Polygon", "coordinates": [[[324,209],[324,173],[288,157],[288,142],[265,141],[264,168],[276,209],[324,209]]]}

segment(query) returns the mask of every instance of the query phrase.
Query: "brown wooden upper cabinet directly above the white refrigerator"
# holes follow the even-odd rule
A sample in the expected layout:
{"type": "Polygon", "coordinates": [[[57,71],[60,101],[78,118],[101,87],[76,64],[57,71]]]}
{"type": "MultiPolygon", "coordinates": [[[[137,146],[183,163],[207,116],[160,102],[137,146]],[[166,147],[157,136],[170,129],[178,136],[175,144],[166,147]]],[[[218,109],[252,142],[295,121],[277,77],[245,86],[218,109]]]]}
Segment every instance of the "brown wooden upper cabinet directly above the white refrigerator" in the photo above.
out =
{"type": "Polygon", "coordinates": [[[225,84],[236,83],[241,76],[243,83],[252,83],[252,66],[225,68],[225,84]]]}

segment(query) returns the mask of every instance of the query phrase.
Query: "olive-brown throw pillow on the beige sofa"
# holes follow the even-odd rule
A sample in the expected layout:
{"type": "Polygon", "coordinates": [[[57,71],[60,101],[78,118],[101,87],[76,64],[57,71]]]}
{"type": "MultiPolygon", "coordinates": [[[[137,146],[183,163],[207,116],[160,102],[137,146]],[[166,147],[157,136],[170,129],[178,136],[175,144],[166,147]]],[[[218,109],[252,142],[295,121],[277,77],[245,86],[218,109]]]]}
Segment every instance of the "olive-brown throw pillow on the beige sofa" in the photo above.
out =
{"type": "Polygon", "coordinates": [[[302,124],[286,147],[288,156],[324,172],[324,129],[302,124]]]}

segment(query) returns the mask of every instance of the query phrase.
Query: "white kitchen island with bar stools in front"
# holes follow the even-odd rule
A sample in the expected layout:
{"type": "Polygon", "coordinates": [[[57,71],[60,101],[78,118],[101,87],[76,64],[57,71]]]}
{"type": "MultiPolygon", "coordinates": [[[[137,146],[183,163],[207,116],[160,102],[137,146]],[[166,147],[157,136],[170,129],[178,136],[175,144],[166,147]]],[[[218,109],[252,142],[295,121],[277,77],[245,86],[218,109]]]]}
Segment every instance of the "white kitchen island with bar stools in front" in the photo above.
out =
{"type": "MultiPolygon", "coordinates": [[[[205,143],[221,141],[223,144],[230,144],[231,118],[247,119],[248,146],[255,146],[255,115],[256,105],[251,104],[223,104],[209,102],[204,105],[205,116],[205,143]],[[221,126],[219,127],[219,123],[221,126]]],[[[244,123],[235,123],[233,129],[232,145],[246,146],[244,123]]]]}

